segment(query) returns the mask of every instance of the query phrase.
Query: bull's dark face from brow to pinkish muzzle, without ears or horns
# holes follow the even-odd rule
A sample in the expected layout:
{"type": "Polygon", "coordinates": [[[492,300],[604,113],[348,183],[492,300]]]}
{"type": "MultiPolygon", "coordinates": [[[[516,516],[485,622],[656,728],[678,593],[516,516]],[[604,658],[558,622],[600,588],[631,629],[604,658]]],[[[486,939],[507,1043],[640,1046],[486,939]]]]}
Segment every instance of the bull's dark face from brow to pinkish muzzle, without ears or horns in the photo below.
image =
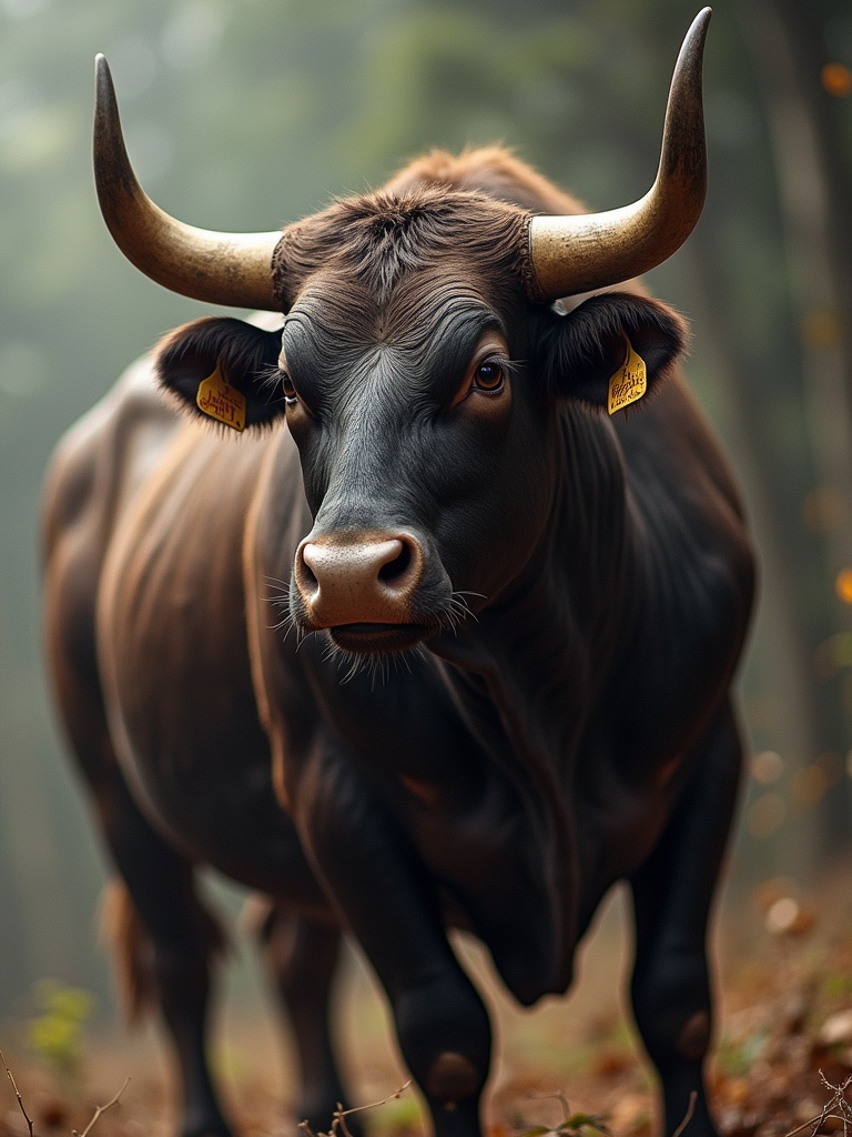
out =
{"type": "Polygon", "coordinates": [[[359,653],[410,647],[517,576],[549,501],[533,490],[542,407],[513,324],[437,273],[385,306],[343,282],[300,297],[279,362],[315,517],[293,570],[298,626],[359,653]]]}

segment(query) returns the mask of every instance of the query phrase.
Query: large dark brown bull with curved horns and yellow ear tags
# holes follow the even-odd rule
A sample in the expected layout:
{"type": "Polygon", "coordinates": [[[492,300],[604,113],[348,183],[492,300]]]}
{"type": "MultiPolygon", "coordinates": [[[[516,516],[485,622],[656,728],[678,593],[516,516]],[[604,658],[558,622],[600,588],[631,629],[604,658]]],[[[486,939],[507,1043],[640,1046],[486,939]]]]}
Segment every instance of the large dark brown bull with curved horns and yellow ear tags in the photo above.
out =
{"type": "Polygon", "coordinates": [[[170,1034],[184,1137],[231,1131],[204,1056],[222,936],[203,864],[270,899],[311,1126],[343,1098],[342,929],[435,1134],[476,1137],[491,1031],[448,929],[532,1004],[567,989],[624,880],[663,1130],[692,1099],[690,1132],[718,1132],[705,936],[752,553],[678,371],[685,325],[636,281],[702,208],[709,15],[652,189],[602,214],[495,148],[432,153],[283,233],[193,229],[140,188],[99,59],[118,246],[176,292],[278,314],[168,334],[47,481],[52,682],[122,881],[124,990],[170,1034]]]}

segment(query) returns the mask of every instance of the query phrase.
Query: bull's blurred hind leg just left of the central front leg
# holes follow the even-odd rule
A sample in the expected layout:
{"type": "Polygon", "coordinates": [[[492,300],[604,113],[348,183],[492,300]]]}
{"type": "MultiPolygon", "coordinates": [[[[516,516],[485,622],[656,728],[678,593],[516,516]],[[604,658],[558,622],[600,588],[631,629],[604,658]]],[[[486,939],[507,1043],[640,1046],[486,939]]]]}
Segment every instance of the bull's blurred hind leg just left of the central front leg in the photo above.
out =
{"type": "MultiPolygon", "coordinates": [[[[302,1072],[296,1120],[327,1132],[340,1103],[346,1103],[329,1031],[329,993],[341,945],[335,923],[310,920],[270,904],[258,929],[266,964],[290,1020],[302,1072]]],[[[351,1132],[357,1120],[346,1122],[351,1132]]]]}

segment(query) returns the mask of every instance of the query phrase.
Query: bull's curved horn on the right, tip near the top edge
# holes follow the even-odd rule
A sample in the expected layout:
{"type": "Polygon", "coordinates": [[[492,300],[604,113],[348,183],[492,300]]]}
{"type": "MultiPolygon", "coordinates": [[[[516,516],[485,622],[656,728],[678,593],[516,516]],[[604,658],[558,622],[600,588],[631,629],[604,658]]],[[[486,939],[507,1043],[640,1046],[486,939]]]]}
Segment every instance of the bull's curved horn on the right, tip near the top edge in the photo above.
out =
{"type": "Polygon", "coordinates": [[[608,213],[532,218],[529,256],[541,297],[556,300],[638,276],[670,257],[692,232],[707,191],[701,63],[711,15],[704,8],[695,17],[680,48],[660,168],[644,198],[608,213]]]}

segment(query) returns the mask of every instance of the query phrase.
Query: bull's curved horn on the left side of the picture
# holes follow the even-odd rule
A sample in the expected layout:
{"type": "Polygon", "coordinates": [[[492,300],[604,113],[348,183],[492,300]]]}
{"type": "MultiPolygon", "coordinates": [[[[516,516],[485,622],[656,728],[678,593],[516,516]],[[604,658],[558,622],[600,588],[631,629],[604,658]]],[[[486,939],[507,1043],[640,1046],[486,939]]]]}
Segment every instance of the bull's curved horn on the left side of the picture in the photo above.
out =
{"type": "Polygon", "coordinates": [[[101,213],[124,255],[143,273],[208,304],[276,310],[274,233],[215,233],[175,221],[151,201],[127,158],[112,77],[95,60],[94,181],[101,213]]]}

